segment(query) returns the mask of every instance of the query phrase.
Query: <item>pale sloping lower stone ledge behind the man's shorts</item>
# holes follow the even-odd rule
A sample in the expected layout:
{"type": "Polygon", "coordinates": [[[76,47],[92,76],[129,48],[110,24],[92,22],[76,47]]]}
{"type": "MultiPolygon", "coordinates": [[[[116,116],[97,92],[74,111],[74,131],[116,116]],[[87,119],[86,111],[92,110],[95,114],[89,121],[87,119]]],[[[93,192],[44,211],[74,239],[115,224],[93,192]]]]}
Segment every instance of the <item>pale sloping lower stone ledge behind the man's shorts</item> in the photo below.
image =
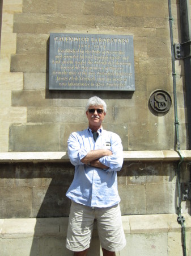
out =
{"type": "MultiPolygon", "coordinates": [[[[191,231],[191,216],[185,230],[191,231]]],[[[181,232],[177,214],[122,216],[125,234],[181,232]]],[[[1,238],[66,237],[68,218],[10,218],[0,220],[1,238]]]]}

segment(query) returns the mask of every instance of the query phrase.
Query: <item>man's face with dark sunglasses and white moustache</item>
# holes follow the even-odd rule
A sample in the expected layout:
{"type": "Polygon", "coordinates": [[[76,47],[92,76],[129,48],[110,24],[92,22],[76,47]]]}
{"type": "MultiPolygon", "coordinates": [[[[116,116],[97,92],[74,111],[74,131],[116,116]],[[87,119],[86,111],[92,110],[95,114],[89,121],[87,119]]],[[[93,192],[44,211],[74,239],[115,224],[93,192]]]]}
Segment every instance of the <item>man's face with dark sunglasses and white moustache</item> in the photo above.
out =
{"type": "Polygon", "coordinates": [[[101,105],[89,106],[87,112],[87,119],[89,121],[89,127],[100,127],[105,118],[104,108],[101,105]]]}

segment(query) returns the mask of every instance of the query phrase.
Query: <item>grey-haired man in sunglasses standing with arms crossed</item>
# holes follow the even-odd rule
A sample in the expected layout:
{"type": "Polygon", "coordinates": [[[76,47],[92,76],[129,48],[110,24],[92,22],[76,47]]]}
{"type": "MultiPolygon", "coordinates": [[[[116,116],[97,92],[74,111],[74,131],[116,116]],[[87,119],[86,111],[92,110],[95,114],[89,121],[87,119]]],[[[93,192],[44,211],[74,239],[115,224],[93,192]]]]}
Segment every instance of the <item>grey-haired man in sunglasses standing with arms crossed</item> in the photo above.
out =
{"type": "Polygon", "coordinates": [[[114,256],[126,245],[122,228],[117,171],[123,152],[120,137],[102,127],[107,106],[99,97],[86,105],[88,129],[72,133],[68,154],[75,166],[66,196],[71,199],[66,247],[74,256],[86,256],[94,222],[104,256],[114,256]]]}

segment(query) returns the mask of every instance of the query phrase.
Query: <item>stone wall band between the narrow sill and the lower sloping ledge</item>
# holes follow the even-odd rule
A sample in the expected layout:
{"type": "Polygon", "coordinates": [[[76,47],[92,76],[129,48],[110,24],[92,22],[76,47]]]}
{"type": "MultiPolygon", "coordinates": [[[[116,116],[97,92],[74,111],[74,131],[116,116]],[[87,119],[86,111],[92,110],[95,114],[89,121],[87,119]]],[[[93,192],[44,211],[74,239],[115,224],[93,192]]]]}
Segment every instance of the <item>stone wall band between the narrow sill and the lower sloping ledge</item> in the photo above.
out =
{"type": "MultiPolygon", "coordinates": [[[[121,214],[177,212],[177,162],[125,161],[118,172],[121,214]]],[[[1,218],[67,217],[65,196],[74,167],[70,163],[1,163],[1,218]]],[[[182,165],[181,182],[189,180],[189,163],[182,165]]],[[[190,213],[190,201],[182,203],[190,213]]]]}

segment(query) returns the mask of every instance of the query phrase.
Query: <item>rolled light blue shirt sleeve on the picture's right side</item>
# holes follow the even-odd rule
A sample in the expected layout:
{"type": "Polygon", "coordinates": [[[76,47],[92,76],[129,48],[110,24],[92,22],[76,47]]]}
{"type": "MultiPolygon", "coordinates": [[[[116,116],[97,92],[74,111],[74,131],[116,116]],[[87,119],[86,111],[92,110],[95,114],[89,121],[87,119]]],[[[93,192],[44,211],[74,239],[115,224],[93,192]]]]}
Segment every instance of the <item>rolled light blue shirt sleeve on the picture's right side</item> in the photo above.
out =
{"type": "Polygon", "coordinates": [[[120,171],[124,162],[123,148],[121,138],[114,133],[111,137],[111,151],[112,155],[103,156],[99,161],[109,167],[107,171],[120,171]]]}

